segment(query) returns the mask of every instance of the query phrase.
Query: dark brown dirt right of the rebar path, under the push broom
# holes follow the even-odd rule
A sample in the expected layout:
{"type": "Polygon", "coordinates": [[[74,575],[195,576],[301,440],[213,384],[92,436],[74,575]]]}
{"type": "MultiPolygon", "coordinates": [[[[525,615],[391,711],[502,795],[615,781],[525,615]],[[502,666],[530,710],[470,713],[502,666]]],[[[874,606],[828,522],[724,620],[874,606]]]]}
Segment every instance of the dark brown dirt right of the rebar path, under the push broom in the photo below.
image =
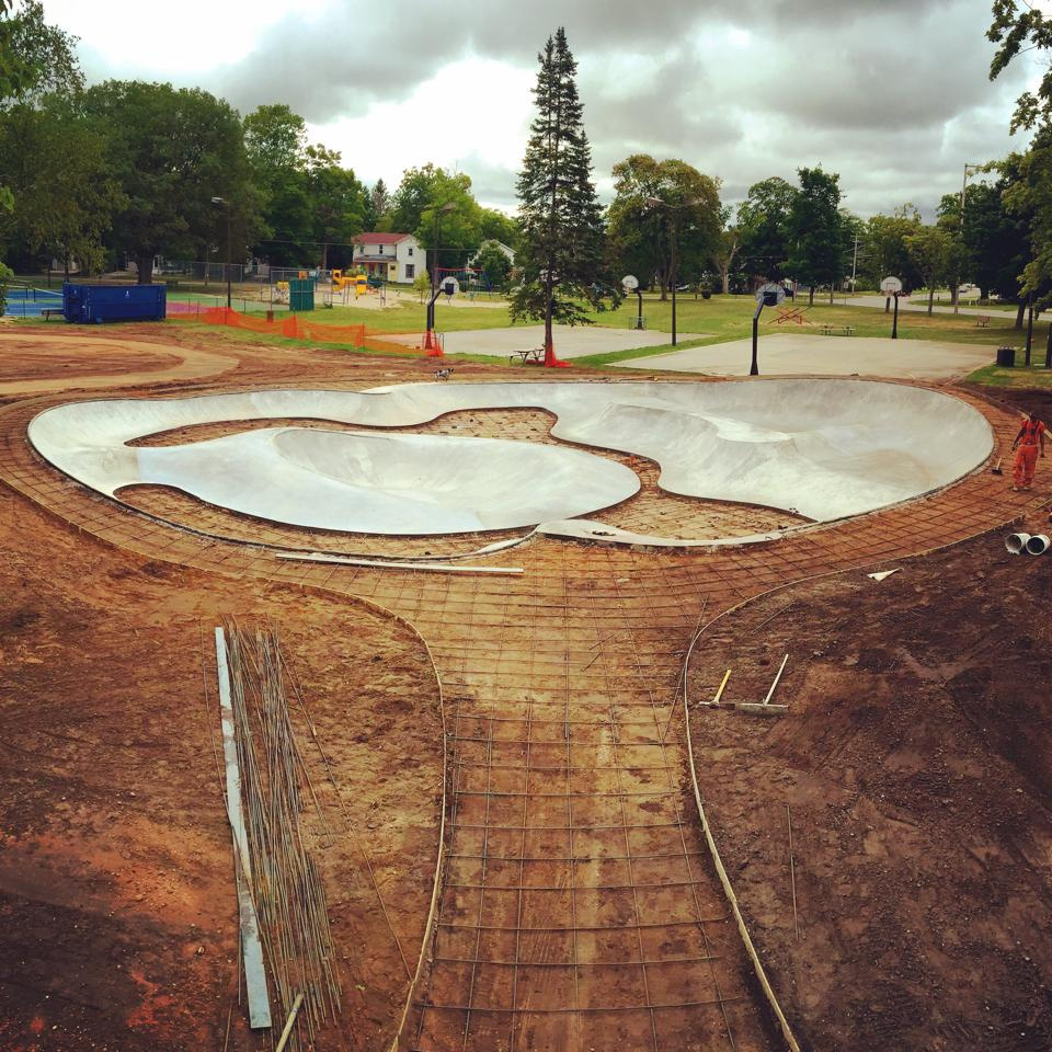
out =
{"type": "Polygon", "coordinates": [[[709,820],[809,1048],[1047,1050],[1052,563],[994,534],[897,565],[702,638],[691,700],[731,668],[724,700],[762,701],[789,655],[788,716],[693,709],[709,820]]]}

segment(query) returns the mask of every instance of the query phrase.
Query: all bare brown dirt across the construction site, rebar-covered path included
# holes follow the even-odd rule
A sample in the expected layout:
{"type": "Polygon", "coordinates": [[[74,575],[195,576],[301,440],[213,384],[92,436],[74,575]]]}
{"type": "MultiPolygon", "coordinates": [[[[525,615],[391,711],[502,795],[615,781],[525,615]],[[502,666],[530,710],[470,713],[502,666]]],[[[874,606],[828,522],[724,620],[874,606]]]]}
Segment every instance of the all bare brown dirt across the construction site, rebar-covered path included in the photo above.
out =
{"type": "MultiPolygon", "coordinates": [[[[434,368],[197,329],[124,327],[122,338],[141,344],[132,351],[126,341],[104,347],[59,332],[46,350],[30,330],[4,334],[0,402],[106,387],[366,387],[426,380],[434,368]]],[[[560,370],[456,368],[455,382],[567,379],[560,370]]],[[[546,441],[549,424],[539,412],[479,413],[425,428],[546,441]]],[[[8,468],[21,462],[20,448],[24,424],[0,435],[8,468]]],[[[781,523],[758,508],[670,501],[653,466],[633,467],[644,490],[608,510],[618,525],[705,535],[781,523]]],[[[421,639],[355,596],[400,610],[427,638],[455,713],[447,734],[458,739],[450,745],[457,835],[428,951],[437,977],[418,988],[413,1047],[506,1049],[487,1043],[487,1028],[507,1030],[507,1004],[518,1006],[510,1044],[519,1052],[708,1052],[731,1047],[732,1024],[739,1052],[778,1047],[756,1024],[759,998],[739,968],[721,894],[699,897],[710,874],[699,824],[679,810],[690,805],[681,791],[682,728],[666,739],[682,722],[668,716],[677,648],[702,595],[712,596],[711,611],[814,572],[819,559],[846,564],[855,557],[845,552],[865,540],[855,526],[816,531],[807,550],[787,541],[740,557],[538,540],[516,550],[521,580],[454,583],[274,568],[253,545],[342,541],[239,519],[171,492],[129,492],[144,510],[228,538],[213,541],[116,511],[32,458],[27,471],[49,487],[33,500],[54,511],[0,484],[2,1052],[263,1047],[244,1030],[238,1003],[216,759],[209,633],[225,614],[277,624],[335,771],[333,785],[305,737],[333,830],[312,836],[344,991],[341,1021],[317,1048],[389,1048],[432,894],[443,730],[421,639]],[[90,516],[71,519],[84,523],[83,533],[59,518],[85,506],[90,516]],[[787,549],[797,554],[779,561],[787,549]],[[180,564],[195,559],[214,571],[180,564]],[[651,842],[659,836],[670,843],[651,842]],[[594,935],[578,931],[590,910],[599,918],[594,935]],[[496,927],[485,923],[502,911],[496,927]],[[622,945],[625,924],[638,946],[622,945]],[[676,941],[688,931],[698,946],[676,941]],[[498,990],[510,959],[521,973],[517,993],[498,990]],[[708,1004],[696,982],[701,962],[719,977],[708,1004]],[[569,1006],[581,1003],[607,1016],[572,1016],[569,1006]],[[465,1004],[470,1027],[457,1007],[465,1004]],[[533,1017],[524,1004],[537,1008],[533,1017]],[[541,1025],[574,1038],[547,1040],[541,1025]]],[[[1008,517],[1021,504],[1014,495],[1002,507],[1000,492],[991,514],[1008,517]]],[[[956,527],[971,508],[949,495],[918,515],[949,516],[951,506],[956,527]]],[[[874,535],[890,528],[887,519],[872,524],[874,535]]],[[[448,548],[434,539],[424,544],[436,554],[448,548]]],[[[354,542],[378,553],[387,545],[354,542]]],[[[733,667],[729,697],[761,700],[790,653],[776,698],[789,701],[789,717],[695,711],[717,843],[804,1047],[1045,1049],[1052,562],[1008,557],[988,535],[895,565],[902,572],[881,584],[851,572],[796,585],[732,611],[702,638],[691,697],[710,694],[733,667]]]]}

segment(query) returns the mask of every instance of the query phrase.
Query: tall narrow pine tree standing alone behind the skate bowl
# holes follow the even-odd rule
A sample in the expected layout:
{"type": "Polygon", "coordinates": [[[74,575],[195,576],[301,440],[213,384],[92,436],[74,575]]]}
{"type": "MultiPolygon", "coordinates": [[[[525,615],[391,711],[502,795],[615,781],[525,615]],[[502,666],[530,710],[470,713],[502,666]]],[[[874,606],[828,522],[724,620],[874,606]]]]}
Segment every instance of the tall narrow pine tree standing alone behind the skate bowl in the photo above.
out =
{"type": "Polygon", "coordinates": [[[512,294],[512,320],[544,319],[545,364],[556,365],[552,322],[590,324],[583,302],[602,310],[604,296],[619,295],[603,282],[603,214],[574,80],[578,64],[561,26],[537,60],[538,112],[517,184],[522,242],[515,263],[523,276],[512,294]]]}

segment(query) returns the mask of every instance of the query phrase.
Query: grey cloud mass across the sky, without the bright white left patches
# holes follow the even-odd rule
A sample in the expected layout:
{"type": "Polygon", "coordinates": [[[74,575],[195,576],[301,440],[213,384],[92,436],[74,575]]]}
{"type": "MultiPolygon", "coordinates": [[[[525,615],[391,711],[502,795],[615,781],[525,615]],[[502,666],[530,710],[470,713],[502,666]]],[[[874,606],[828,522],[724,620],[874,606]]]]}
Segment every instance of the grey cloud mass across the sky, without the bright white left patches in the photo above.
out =
{"type": "MultiPolygon", "coordinates": [[[[821,162],[853,210],[913,201],[930,214],[965,161],[1025,145],[1007,125],[1038,55],[991,84],[990,19],[990,0],[347,0],[321,19],[289,14],[251,56],[197,80],[242,112],[282,101],[324,124],[404,100],[467,56],[534,70],[563,24],[604,194],[632,152],[696,164],[723,180],[725,201],[821,162]]],[[[514,171],[473,157],[459,167],[481,199],[514,202],[514,171]]],[[[393,184],[400,172],[375,174],[393,184]]]]}

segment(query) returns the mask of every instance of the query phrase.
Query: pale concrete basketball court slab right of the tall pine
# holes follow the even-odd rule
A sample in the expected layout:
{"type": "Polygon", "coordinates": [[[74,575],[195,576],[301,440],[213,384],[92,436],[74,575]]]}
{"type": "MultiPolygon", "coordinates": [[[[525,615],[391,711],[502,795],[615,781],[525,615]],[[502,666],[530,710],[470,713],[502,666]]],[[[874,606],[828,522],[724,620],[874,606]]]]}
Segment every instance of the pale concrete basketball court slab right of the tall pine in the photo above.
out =
{"type": "MultiPolygon", "coordinates": [[[[823,336],[814,332],[763,333],[757,346],[762,376],[880,376],[945,379],[991,365],[997,348],[934,340],[823,336]]],[[[662,369],[707,376],[748,376],[753,341],[735,340],[671,354],[629,358],[625,369],[662,369]]]]}

